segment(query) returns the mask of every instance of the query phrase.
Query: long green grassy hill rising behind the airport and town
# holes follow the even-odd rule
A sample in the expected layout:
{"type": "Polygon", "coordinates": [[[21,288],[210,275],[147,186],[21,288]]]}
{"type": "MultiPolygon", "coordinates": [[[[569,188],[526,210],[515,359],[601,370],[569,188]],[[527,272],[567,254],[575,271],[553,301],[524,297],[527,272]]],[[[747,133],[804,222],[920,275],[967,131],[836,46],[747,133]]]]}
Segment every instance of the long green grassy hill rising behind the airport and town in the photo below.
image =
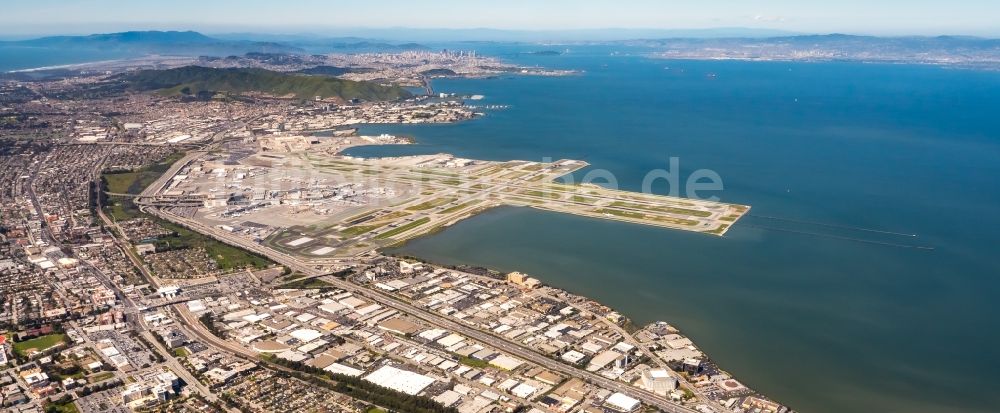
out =
{"type": "Polygon", "coordinates": [[[327,76],[281,73],[264,69],[215,69],[185,66],[167,70],[142,70],[125,74],[122,80],[132,90],[160,90],[164,94],[197,95],[206,92],[260,92],[299,99],[339,98],[398,100],[412,96],[398,86],[382,86],[327,76]]]}

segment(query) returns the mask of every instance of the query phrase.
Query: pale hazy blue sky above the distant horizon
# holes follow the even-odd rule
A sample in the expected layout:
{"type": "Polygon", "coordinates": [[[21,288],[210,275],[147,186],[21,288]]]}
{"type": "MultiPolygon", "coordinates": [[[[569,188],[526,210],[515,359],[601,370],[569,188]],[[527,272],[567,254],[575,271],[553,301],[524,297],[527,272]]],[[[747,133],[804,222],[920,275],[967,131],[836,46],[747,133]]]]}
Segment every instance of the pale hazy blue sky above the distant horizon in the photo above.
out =
{"type": "Polygon", "coordinates": [[[5,0],[0,34],[351,27],[691,29],[1000,36],[1000,0],[5,0]]]}

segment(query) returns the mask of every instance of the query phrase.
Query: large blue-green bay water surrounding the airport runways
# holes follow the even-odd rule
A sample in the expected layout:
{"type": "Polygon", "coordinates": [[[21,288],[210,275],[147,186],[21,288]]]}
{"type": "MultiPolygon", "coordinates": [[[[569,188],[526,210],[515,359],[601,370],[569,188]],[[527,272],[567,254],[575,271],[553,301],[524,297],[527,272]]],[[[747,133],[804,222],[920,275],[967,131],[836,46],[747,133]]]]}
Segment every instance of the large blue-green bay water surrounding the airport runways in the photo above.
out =
{"type": "Polygon", "coordinates": [[[352,153],[583,159],[633,190],[676,156],[683,176],[718,172],[717,195],[754,216],[717,238],[503,208],[402,253],[525,271],[669,321],[803,412],[996,411],[1000,74],[593,49],[517,59],[586,72],[437,82],[510,108],[370,127],[419,144],[352,153]]]}

